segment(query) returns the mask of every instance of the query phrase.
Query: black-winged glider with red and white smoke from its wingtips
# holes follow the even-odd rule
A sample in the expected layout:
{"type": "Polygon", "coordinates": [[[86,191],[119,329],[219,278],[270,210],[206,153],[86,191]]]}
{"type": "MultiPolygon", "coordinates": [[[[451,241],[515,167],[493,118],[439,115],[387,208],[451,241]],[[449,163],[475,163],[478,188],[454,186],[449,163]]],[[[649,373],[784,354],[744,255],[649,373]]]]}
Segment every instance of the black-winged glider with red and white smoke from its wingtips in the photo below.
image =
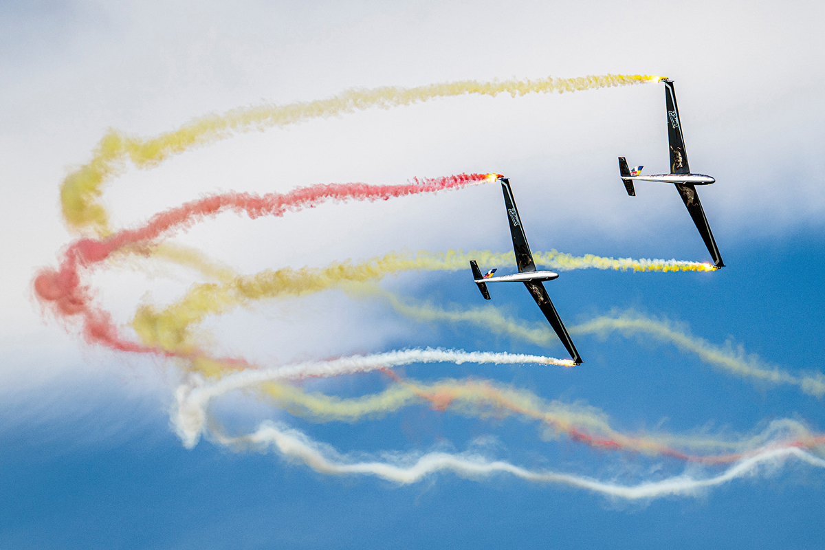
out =
{"type": "Polygon", "coordinates": [[[486,275],[481,275],[479,265],[475,260],[470,260],[469,266],[473,270],[473,279],[475,284],[479,285],[479,290],[485,300],[490,299],[490,293],[487,289],[488,283],[524,283],[530,295],[539,304],[541,312],[550,323],[550,327],[559,335],[559,340],[562,341],[564,347],[567,348],[570,357],[573,358],[573,364],[582,364],[582,357],[578,355],[576,346],[573,346],[573,340],[570,338],[568,331],[564,328],[559,313],[553,306],[547,295],[547,290],[544,289],[545,280],[554,280],[559,277],[555,271],[535,269],[535,261],[533,261],[533,254],[530,252],[530,246],[527,244],[527,237],[524,233],[524,228],[521,225],[521,218],[516,209],[516,200],[513,198],[512,189],[510,188],[510,180],[504,176],[498,176],[498,181],[502,182],[502,191],[504,191],[504,207],[507,209],[507,221],[510,223],[510,233],[513,237],[513,251],[516,254],[516,265],[518,266],[518,273],[512,275],[493,276],[496,270],[490,270],[486,275]]]}

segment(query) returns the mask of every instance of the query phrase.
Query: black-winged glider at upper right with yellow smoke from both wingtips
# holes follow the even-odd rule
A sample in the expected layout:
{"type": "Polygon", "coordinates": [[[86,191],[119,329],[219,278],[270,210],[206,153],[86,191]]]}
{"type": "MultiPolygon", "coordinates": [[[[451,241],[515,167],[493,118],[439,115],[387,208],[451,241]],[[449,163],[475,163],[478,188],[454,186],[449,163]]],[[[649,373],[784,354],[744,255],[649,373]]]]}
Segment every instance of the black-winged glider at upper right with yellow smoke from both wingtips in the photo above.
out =
{"type": "Polygon", "coordinates": [[[693,223],[699,229],[705,246],[708,247],[710,256],[714,259],[714,267],[719,269],[724,267],[722,255],[716,247],[714,234],[710,231],[710,224],[705,218],[705,210],[699,200],[699,193],[695,186],[708,186],[716,181],[711,176],[705,174],[691,174],[691,168],[687,164],[687,153],[685,150],[685,139],[681,134],[681,121],[679,120],[679,107],[676,105],[676,91],[673,89],[673,81],[670,78],[662,80],[665,83],[665,106],[667,107],[667,139],[670,142],[670,162],[671,173],[651,174],[640,176],[641,166],[630,170],[625,157],[619,157],[619,172],[621,181],[625,182],[625,189],[630,196],[636,196],[634,181],[662,181],[672,183],[681,195],[681,200],[685,203],[687,211],[691,214],[693,223]]]}

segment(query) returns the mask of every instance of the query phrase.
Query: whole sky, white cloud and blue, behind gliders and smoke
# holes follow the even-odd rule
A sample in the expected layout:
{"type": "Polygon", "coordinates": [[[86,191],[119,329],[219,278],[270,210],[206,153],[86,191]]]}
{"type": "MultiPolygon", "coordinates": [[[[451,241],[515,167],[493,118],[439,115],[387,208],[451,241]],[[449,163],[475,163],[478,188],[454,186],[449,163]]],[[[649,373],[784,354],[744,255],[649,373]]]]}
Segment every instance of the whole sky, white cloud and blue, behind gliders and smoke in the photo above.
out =
{"type": "MultiPolygon", "coordinates": [[[[237,451],[209,434],[186,449],[172,426],[179,365],[83,343],[31,294],[72,238],[59,184],[108,128],[151,136],[210,112],[330,96],[347,87],[465,78],[601,73],[676,80],[691,167],[724,270],[563,272],[548,284],[568,327],[633,310],[713,346],[730,341],[792,374],[822,372],[825,195],[818,110],[822,7],[645,2],[361,2],[336,7],[248,2],[8,4],[0,42],[0,165],[6,281],[0,294],[0,548],[816,548],[823,470],[794,459],[702,491],[623,501],[496,474],[450,472],[408,486],[315,472],[271,450],[237,451]],[[233,5],[234,6],[234,5],[233,5]],[[493,24],[496,22],[496,24],[493,24]],[[701,25],[699,25],[701,23],[701,25]],[[698,25],[698,26],[697,26],[698,25]],[[674,44],[667,33],[682,36],[674,44]],[[696,40],[685,40],[695,30],[696,40]],[[815,63],[816,62],[816,63],[815,63]],[[799,78],[803,75],[805,78],[799,78]],[[67,330],[68,329],[68,330],[67,330]]],[[[366,110],[242,134],[153,170],[125,167],[106,187],[113,223],[219,190],[314,183],[403,183],[413,176],[500,172],[512,178],[534,250],[705,261],[671,189],[629,198],[615,157],[666,167],[662,89],[460,97],[366,110]]],[[[323,204],[279,219],[223,215],[177,238],[243,273],[324,266],[394,250],[511,247],[497,184],[378,203],[323,204]]],[[[446,308],[484,305],[469,270],[405,273],[385,289],[446,308]]],[[[96,275],[101,303],[128,325],[139,303],[170,303],[195,282],[152,261],[96,275]]],[[[541,315],[521,288],[493,305],[541,315]]],[[[205,323],[215,349],[263,364],[442,347],[564,357],[471,324],[421,323],[339,290],[257,304],[205,323]]],[[[413,364],[418,380],[489,379],[550,401],[597,407],[627,433],[753,435],[791,418],[822,433],[821,398],[738,377],[650,336],[574,336],[585,364],[413,364]]],[[[341,397],[375,393],[382,374],[304,383],[341,397]]],[[[535,422],[479,419],[424,404],[357,422],[290,415],[253,393],[213,404],[236,433],[275,420],[356,458],[474,449],[490,459],[634,485],[724,468],[591,449],[541,437],[535,422]]],[[[821,454],[821,451],[820,451],[821,454]]]]}

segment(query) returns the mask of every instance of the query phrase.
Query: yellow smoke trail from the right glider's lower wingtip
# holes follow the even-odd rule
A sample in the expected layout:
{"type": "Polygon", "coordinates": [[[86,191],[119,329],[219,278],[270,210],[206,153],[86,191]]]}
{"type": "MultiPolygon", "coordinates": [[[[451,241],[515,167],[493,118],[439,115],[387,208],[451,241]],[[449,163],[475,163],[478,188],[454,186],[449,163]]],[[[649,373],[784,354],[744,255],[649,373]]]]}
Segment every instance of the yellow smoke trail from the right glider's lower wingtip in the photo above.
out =
{"type": "MultiPolygon", "coordinates": [[[[380,280],[385,275],[408,270],[464,270],[469,260],[478,259],[483,266],[512,266],[512,252],[460,250],[446,252],[390,252],[385,256],[372,258],[360,263],[332,262],[323,268],[301,269],[282,268],[280,270],[263,270],[256,275],[233,275],[232,271],[209,261],[196,251],[182,247],[164,245],[155,249],[158,256],[176,261],[184,266],[199,269],[204,275],[218,280],[219,283],[196,284],[186,296],[163,311],[153,306],[144,305],[138,309],[132,327],[147,346],[163,346],[164,349],[189,352],[195,344],[190,340],[188,327],[199,323],[209,315],[225,313],[232,308],[248,305],[261,299],[276,297],[302,296],[312,294],[347,283],[365,283],[380,280]]],[[[542,266],[551,266],[559,270],[570,269],[614,269],[614,270],[705,270],[706,264],[686,261],[632,260],[603,258],[601,256],[571,256],[559,251],[537,252],[535,258],[542,266]]],[[[394,308],[399,312],[403,304],[395,300],[394,308]]],[[[507,322],[493,309],[470,310],[463,313],[433,310],[437,320],[474,322],[483,319],[485,326],[528,341],[545,345],[549,336],[544,331],[536,331],[507,322]]],[[[401,312],[403,313],[403,312],[401,312]]],[[[419,313],[408,312],[410,316],[427,317],[425,309],[419,313]]],[[[435,318],[431,320],[436,320],[435,318]]]]}

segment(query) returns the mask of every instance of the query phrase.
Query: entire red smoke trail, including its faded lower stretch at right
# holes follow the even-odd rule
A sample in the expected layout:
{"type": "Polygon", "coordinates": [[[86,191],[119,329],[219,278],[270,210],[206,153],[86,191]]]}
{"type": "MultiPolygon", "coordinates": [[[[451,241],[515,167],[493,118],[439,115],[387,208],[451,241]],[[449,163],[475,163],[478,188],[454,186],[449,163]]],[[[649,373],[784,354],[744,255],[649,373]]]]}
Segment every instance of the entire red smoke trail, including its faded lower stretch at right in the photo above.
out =
{"type": "MultiPolygon", "coordinates": [[[[143,346],[120,336],[111,314],[94,303],[92,290],[87,285],[82,284],[82,275],[87,274],[88,270],[104,261],[114,251],[129,245],[150,242],[158,237],[169,237],[174,231],[189,228],[207,217],[214,217],[224,211],[231,210],[238,214],[246,213],[252,219],[265,215],[282,216],[287,210],[297,211],[308,207],[312,208],[327,200],[389,200],[391,197],[460,188],[479,183],[488,178],[490,176],[486,174],[462,174],[435,179],[416,179],[414,184],[404,186],[369,186],[361,183],[329,184],[298,188],[286,194],[254,195],[230,192],[222,195],[210,195],[156,214],[141,228],[122,230],[102,239],[78,239],[70,244],[64,252],[63,261],[59,268],[40,270],[35,276],[33,286],[41,303],[49,307],[58,318],[68,321],[79,317],[82,323],[83,337],[89,344],[99,344],[119,351],[192,358],[201,354],[199,352],[184,354],[159,347],[143,346]]],[[[237,364],[240,367],[251,366],[243,359],[230,358],[221,359],[220,361],[237,364]]],[[[403,380],[391,370],[388,369],[384,372],[399,383],[403,383],[403,380]]],[[[453,401],[453,396],[448,392],[417,393],[420,397],[430,401],[433,407],[440,411],[449,408],[453,401]]],[[[488,388],[488,393],[491,402],[496,403],[499,407],[526,416],[535,416],[531,411],[524,410],[516,403],[507,402],[500,393],[495,391],[495,388],[488,388]]],[[[644,449],[655,450],[658,454],[695,463],[733,463],[764,450],[756,449],[747,453],[697,456],[685,454],[664,445],[657,445],[655,449],[652,449],[649,441],[625,437],[623,438],[625,444],[621,444],[615,440],[587,435],[573,427],[560,425],[553,425],[553,427],[566,433],[571,440],[582,442],[595,449],[624,452],[639,452],[644,449]]],[[[823,444],[825,444],[825,435],[809,437],[805,440],[777,443],[775,448],[795,446],[812,449],[823,444]]],[[[774,448],[774,446],[771,446],[771,448],[774,448]]]]}

